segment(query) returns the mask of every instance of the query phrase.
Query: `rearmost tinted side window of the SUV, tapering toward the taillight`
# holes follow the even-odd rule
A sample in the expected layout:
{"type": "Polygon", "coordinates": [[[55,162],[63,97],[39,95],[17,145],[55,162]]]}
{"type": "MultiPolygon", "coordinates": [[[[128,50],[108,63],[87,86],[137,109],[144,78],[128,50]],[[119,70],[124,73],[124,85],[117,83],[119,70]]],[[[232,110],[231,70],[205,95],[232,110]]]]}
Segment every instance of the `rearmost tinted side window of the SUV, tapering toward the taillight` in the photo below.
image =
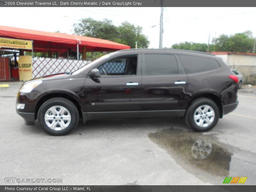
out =
{"type": "Polygon", "coordinates": [[[215,59],[190,55],[178,55],[178,57],[187,74],[200,73],[220,68],[220,64],[215,59]]]}

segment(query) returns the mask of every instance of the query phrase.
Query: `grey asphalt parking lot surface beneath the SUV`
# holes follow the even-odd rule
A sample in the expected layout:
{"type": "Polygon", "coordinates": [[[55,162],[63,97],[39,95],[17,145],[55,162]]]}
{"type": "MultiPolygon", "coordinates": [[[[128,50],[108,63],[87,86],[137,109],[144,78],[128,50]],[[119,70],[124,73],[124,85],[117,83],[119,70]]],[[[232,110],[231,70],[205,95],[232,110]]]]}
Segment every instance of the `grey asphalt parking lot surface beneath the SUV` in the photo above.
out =
{"type": "MultiPolygon", "coordinates": [[[[225,177],[256,177],[256,89],[239,90],[235,111],[206,133],[180,118],[79,122],[66,136],[24,124],[15,111],[20,82],[0,88],[0,185],[6,177],[62,179],[40,185],[220,185],[225,177]],[[193,147],[203,143],[203,157],[193,147]]],[[[30,183],[31,184],[31,183],[30,183]]]]}

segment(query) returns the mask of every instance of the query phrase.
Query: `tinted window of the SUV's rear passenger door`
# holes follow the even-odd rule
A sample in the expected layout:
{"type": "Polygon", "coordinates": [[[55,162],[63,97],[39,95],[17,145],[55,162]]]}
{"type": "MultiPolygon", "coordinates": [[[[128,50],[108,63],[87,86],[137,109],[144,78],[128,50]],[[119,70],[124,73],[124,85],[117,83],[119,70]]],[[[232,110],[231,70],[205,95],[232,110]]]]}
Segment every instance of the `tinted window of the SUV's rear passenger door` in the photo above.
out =
{"type": "Polygon", "coordinates": [[[171,75],[178,73],[178,62],[174,55],[145,54],[144,75],[171,75]]]}

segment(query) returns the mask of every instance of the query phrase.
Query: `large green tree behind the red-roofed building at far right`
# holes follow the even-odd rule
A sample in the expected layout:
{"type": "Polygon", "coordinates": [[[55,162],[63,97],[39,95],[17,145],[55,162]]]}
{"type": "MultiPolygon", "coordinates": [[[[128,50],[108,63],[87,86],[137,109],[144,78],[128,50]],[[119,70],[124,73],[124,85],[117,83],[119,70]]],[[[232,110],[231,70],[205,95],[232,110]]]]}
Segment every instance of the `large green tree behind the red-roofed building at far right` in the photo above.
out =
{"type": "Polygon", "coordinates": [[[252,52],[254,39],[251,31],[245,31],[230,36],[222,34],[212,42],[215,51],[252,52]]]}

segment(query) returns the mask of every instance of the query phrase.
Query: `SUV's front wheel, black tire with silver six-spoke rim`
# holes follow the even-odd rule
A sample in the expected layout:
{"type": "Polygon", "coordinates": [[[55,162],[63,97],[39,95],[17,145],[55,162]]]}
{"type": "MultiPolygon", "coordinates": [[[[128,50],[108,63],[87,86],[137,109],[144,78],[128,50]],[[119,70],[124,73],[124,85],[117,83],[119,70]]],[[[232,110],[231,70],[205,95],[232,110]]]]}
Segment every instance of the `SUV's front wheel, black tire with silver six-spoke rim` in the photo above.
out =
{"type": "Polygon", "coordinates": [[[37,120],[45,132],[60,136],[76,128],[79,113],[73,102],[57,97],[43,103],[38,110],[37,120]]]}

